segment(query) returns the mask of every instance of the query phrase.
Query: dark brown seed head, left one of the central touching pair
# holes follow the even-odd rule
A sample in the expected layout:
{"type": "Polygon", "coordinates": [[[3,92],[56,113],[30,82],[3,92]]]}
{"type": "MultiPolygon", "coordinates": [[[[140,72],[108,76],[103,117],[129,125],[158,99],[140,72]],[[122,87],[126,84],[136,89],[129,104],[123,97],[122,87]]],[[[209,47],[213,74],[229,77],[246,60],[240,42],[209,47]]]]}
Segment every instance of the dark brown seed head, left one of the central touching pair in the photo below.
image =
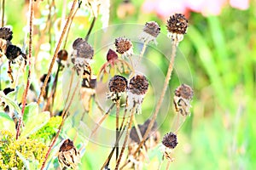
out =
{"type": "Polygon", "coordinates": [[[125,77],[115,75],[113,78],[110,79],[108,83],[108,88],[109,91],[113,93],[125,92],[127,88],[127,80],[125,77]]]}

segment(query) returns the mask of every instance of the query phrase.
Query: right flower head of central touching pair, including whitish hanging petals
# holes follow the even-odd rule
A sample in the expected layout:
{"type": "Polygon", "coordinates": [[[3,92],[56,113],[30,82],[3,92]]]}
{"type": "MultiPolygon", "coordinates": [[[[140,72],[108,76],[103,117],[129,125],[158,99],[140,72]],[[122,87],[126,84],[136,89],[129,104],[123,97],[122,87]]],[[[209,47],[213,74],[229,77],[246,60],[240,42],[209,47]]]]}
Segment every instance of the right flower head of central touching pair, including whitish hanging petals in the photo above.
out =
{"type": "Polygon", "coordinates": [[[148,92],[148,80],[143,75],[132,77],[128,85],[128,109],[136,107],[137,113],[141,113],[141,105],[145,94],[148,92]]]}

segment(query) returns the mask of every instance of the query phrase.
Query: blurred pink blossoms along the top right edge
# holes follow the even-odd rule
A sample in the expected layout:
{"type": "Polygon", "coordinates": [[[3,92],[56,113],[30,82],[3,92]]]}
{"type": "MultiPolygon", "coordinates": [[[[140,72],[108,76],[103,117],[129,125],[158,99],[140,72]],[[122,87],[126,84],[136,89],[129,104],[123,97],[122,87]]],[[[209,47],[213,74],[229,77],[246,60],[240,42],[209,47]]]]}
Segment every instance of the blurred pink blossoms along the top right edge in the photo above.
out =
{"type": "Polygon", "coordinates": [[[205,16],[218,15],[228,3],[233,8],[249,7],[249,0],[146,0],[143,3],[143,12],[155,13],[163,19],[174,13],[188,14],[189,11],[205,16]]]}

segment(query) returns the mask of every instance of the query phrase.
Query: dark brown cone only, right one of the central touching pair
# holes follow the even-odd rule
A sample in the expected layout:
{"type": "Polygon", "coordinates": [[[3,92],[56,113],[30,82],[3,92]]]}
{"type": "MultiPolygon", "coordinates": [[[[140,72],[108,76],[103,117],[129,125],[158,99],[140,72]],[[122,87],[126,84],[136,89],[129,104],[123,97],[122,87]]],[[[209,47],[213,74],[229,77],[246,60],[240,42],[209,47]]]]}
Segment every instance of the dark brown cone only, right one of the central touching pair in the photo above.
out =
{"type": "Polygon", "coordinates": [[[148,80],[143,75],[137,75],[131,78],[129,83],[131,94],[143,95],[148,91],[148,80]]]}

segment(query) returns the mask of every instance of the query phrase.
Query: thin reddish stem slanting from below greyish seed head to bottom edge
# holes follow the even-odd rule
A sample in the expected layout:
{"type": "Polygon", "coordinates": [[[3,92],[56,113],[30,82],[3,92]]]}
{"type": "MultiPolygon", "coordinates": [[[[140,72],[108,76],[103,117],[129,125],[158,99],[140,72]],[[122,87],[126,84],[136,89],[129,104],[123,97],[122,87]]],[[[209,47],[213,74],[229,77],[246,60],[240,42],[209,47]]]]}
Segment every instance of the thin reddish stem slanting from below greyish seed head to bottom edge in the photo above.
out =
{"type": "MultiPolygon", "coordinates": [[[[73,81],[70,81],[70,82],[73,82],[73,81]]],[[[69,108],[70,108],[70,105],[71,105],[72,102],[73,102],[73,98],[74,98],[75,92],[77,91],[78,87],[79,87],[79,81],[76,83],[76,86],[75,86],[75,88],[74,88],[74,90],[73,90],[73,94],[72,94],[72,97],[71,97],[71,99],[70,99],[69,104],[67,105],[67,108],[65,108],[67,102],[66,102],[66,104],[65,104],[65,106],[64,106],[64,110],[63,110],[63,114],[62,114],[62,120],[61,120],[61,125],[59,126],[58,132],[56,133],[54,139],[52,139],[52,142],[51,142],[51,144],[49,145],[49,149],[47,150],[47,153],[46,153],[46,155],[45,155],[45,157],[44,157],[44,162],[43,162],[43,164],[42,164],[41,170],[44,169],[45,163],[46,163],[46,161],[47,161],[47,159],[48,159],[48,157],[49,157],[49,152],[50,152],[50,150],[52,149],[52,147],[54,146],[55,142],[57,141],[57,139],[58,139],[58,137],[59,137],[59,135],[60,135],[60,133],[61,133],[61,129],[62,129],[62,127],[64,126],[64,122],[66,121],[66,118],[67,118],[68,110],[69,110],[69,108]]],[[[71,88],[72,88],[72,85],[70,85],[70,87],[69,87],[68,94],[70,93],[71,88]]],[[[66,101],[67,101],[67,100],[66,100],[66,101]]]]}

